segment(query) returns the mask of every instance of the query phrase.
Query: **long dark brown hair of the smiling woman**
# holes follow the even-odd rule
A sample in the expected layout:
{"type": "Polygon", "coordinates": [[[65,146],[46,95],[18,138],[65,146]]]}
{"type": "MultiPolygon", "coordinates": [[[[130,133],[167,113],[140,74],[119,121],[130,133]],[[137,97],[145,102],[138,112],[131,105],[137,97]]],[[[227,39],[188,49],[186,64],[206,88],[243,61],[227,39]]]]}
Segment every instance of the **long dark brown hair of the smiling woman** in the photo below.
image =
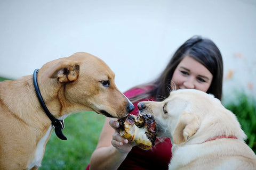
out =
{"type": "Polygon", "coordinates": [[[216,98],[221,100],[223,77],[222,56],[220,50],[212,40],[200,36],[194,36],[181,45],[174,53],[162,74],[155,81],[136,87],[143,88],[143,86],[153,86],[153,89],[132,97],[130,100],[134,102],[154,97],[156,101],[162,101],[167,98],[170,95],[171,80],[174,70],[185,56],[194,58],[212,73],[212,83],[206,92],[207,94],[213,94],[216,98]]]}

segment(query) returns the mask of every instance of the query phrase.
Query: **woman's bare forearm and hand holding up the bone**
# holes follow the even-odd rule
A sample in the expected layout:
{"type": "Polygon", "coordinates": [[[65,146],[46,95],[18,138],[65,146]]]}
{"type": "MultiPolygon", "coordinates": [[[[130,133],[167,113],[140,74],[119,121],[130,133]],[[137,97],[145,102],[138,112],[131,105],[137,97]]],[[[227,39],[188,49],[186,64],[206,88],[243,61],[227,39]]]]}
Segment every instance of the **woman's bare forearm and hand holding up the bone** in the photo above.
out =
{"type": "Polygon", "coordinates": [[[119,134],[119,122],[107,117],[91,156],[91,169],[117,169],[134,146],[119,134]]]}

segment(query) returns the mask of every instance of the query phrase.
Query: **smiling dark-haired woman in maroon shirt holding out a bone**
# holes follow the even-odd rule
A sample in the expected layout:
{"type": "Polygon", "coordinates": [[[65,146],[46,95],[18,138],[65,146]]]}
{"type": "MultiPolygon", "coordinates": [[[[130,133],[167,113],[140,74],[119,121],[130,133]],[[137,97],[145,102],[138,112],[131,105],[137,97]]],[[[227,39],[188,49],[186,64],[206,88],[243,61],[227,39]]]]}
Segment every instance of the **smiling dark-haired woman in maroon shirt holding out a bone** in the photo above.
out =
{"type": "MultiPolygon", "coordinates": [[[[191,37],[177,49],[156,80],[124,93],[135,107],[130,114],[139,114],[138,101],[162,101],[167,98],[172,84],[177,89],[197,89],[221,99],[222,75],[222,56],[218,47],[210,39],[191,37]]],[[[167,169],[172,157],[169,138],[157,138],[154,147],[148,151],[141,150],[122,137],[119,125],[114,120],[106,119],[98,146],[92,154],[91,169],[167,169]]]]}

